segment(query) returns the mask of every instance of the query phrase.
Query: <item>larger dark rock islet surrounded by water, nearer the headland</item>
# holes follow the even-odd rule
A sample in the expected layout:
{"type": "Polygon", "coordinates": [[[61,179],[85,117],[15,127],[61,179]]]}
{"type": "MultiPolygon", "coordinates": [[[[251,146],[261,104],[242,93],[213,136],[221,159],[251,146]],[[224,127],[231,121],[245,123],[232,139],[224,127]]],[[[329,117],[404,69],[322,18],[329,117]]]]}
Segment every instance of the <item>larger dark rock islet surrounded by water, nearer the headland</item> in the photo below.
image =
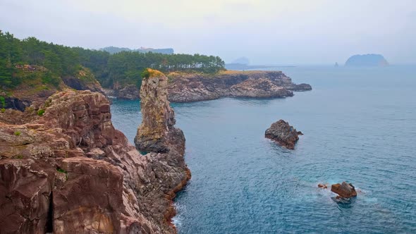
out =
{"type": "Polygon", "coordinates": [[[295,149],[295,143],[299,140],[298,136],[303,134],[298,132],[293,126],[290,126],[286,121],[280,120],[272,123],[264,135],[283,147],[295,149]]]}

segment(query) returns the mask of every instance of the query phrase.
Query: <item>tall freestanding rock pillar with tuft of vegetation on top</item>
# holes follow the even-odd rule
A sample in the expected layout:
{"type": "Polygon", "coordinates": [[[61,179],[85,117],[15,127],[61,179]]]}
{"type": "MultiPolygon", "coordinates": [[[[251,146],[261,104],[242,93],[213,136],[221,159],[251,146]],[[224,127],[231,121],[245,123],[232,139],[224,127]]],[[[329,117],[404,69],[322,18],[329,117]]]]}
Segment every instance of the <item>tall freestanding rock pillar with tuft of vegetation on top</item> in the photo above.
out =
{"type": "Polygon", "coordinates": [[[135,146],[142,152],[166,153],[172,145],[185,148],[182,130],[174,128],[175,113],[168,101],[168,78],[158,70],[145,70],[140,87],[142,124],[137,129],[135,146]]]}

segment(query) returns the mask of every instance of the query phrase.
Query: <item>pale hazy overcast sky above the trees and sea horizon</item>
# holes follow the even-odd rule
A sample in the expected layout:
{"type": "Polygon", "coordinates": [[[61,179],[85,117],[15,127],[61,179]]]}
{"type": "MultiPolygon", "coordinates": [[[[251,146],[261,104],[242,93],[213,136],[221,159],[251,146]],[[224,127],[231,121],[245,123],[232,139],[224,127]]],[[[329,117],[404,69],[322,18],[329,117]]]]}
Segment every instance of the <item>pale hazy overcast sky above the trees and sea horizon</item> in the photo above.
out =
{"type": "Polygon", "coordinates": [[[252,64],[416,63],[415,0],[0,0],[0,30],[99,49],[172,47],[252,64]]]}

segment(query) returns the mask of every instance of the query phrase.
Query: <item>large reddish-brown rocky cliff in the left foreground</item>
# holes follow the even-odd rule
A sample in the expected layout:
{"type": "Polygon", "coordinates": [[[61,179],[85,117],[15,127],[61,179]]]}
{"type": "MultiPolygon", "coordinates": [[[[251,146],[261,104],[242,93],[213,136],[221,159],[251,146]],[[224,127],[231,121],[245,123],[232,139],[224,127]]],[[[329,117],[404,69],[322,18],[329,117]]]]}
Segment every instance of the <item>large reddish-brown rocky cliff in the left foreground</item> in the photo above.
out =
{"type": "Polygon", "coordinates": [[[0,233],[176,233],[184,139],[141,155],[97,92],[66,90],[32,108],[0,122],[0,233]]]}

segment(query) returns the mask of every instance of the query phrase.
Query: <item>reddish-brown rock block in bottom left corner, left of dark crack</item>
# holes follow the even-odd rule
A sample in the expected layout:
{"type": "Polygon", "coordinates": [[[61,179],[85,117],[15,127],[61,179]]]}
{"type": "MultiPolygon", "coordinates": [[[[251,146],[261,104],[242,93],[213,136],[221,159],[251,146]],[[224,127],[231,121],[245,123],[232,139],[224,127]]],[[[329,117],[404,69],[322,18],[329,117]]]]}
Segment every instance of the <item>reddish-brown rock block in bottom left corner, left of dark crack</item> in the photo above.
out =
{"type": "Polygon", "coordinates": [[[0,160],[0,233],[47,232],[53,175],[32,159],[0,160]]]}

